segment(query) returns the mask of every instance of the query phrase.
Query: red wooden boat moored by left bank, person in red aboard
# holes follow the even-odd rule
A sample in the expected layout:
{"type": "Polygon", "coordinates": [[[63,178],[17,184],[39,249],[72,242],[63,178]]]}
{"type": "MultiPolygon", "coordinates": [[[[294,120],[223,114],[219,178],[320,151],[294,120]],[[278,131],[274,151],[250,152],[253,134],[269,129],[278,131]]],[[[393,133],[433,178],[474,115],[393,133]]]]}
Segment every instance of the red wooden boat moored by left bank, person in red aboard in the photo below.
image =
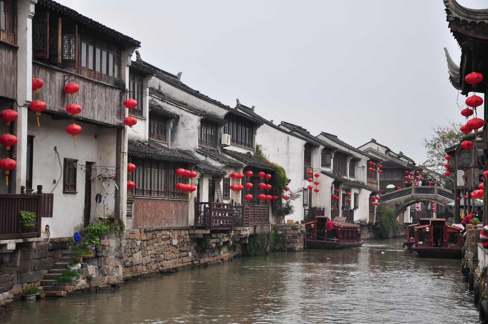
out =
{"type": "Polygon", "coordinates": [[[346,217],[336,217],[334,239],[325,237],[325,216],[317,216],[316,221],[305,223],[305,243],[307,249],[344,249],[363,245],[359,226],[345,223],[346,217]]]}

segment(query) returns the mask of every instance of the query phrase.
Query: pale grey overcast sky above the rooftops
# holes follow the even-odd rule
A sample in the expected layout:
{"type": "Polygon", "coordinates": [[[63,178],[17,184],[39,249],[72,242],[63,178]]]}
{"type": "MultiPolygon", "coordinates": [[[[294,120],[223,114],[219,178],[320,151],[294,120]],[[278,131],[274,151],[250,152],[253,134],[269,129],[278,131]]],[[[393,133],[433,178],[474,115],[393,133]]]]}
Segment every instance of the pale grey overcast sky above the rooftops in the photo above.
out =
{"type": "Polygon", "coordinates": [[[461,51],[442,0],[58,1],[141,41],[144,61],[210,98],[238,98],[312,135],[356,147],[374,138],[420,164],[431,125],[464,121],[444,47],[457,63],[461,51]]]}

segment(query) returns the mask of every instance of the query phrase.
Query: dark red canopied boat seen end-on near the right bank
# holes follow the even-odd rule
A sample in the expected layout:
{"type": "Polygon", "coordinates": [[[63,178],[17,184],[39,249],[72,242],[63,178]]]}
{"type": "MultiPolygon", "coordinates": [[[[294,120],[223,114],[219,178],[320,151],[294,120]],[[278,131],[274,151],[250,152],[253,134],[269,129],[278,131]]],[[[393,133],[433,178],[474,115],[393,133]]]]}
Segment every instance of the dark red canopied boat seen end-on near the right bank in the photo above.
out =
{"type": "Polygon", "coordinates": [[[446,224],[443,218],[432,218],[414,227],[415,243],[411,251],[421,258],[461,259],[462,228],[446,224]]]}

